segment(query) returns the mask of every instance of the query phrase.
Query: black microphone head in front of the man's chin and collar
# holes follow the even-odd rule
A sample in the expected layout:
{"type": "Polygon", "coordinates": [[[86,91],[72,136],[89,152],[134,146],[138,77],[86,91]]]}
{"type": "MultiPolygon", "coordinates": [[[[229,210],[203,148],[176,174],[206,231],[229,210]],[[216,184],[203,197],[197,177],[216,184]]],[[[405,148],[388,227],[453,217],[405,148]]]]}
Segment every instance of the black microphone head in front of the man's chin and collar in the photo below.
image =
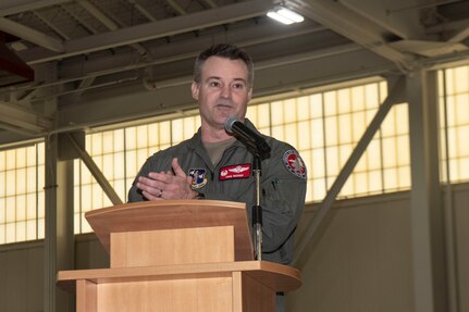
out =
{"type": "Polygon", "coordinates": [[[259,157],[261,160],[270,158],[270,146],[266,139],[245,126],[236,117],[230,116],[226,118],[225,129],[234,134],[235,138],[244,143],[255,157],[259,157]]]}

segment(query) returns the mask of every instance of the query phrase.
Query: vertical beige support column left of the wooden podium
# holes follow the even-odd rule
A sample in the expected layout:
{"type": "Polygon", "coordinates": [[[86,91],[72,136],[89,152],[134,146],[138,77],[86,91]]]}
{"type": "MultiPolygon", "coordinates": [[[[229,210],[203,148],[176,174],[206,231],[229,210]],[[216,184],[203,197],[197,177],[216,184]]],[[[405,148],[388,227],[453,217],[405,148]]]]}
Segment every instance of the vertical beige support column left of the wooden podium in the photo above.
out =
{"type": "MultiPolygon", "coordinates": [[[[54,65],[45,70],[54,79],[54,65]]],[[[44,103],[45,114],[57,124],[57,100],[44,103]]],[[[45,201],[46,239],[44,245],[44,311],[74,311],[73,295],[55,284],[60,270],[74,269],[73,230],[73,160],[60,160],[60,140],[57,135],[46,137],[45,201]]]]}

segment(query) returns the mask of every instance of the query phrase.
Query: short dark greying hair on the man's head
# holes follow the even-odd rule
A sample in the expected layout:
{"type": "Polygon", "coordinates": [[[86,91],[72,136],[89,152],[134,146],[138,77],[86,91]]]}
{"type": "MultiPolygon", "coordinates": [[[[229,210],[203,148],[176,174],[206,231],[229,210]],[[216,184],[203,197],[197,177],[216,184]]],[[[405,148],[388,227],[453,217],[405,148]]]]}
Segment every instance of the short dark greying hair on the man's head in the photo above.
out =
{"type": "Polygon", "coordinates": [[[254,84],[252,59],[243,49],[239,49],[238,47],[230,43],[214,45],[200,52],[194,65],[194,82],[196,82],[197,84],[200,83],[203,64],[207,61],[207,59],[210,57],[226,58],[230,60],[242,60],[246,64],[247,71],[248,71],[247,83],[249,87],[252,87],[252,84],[254,84]]]}

